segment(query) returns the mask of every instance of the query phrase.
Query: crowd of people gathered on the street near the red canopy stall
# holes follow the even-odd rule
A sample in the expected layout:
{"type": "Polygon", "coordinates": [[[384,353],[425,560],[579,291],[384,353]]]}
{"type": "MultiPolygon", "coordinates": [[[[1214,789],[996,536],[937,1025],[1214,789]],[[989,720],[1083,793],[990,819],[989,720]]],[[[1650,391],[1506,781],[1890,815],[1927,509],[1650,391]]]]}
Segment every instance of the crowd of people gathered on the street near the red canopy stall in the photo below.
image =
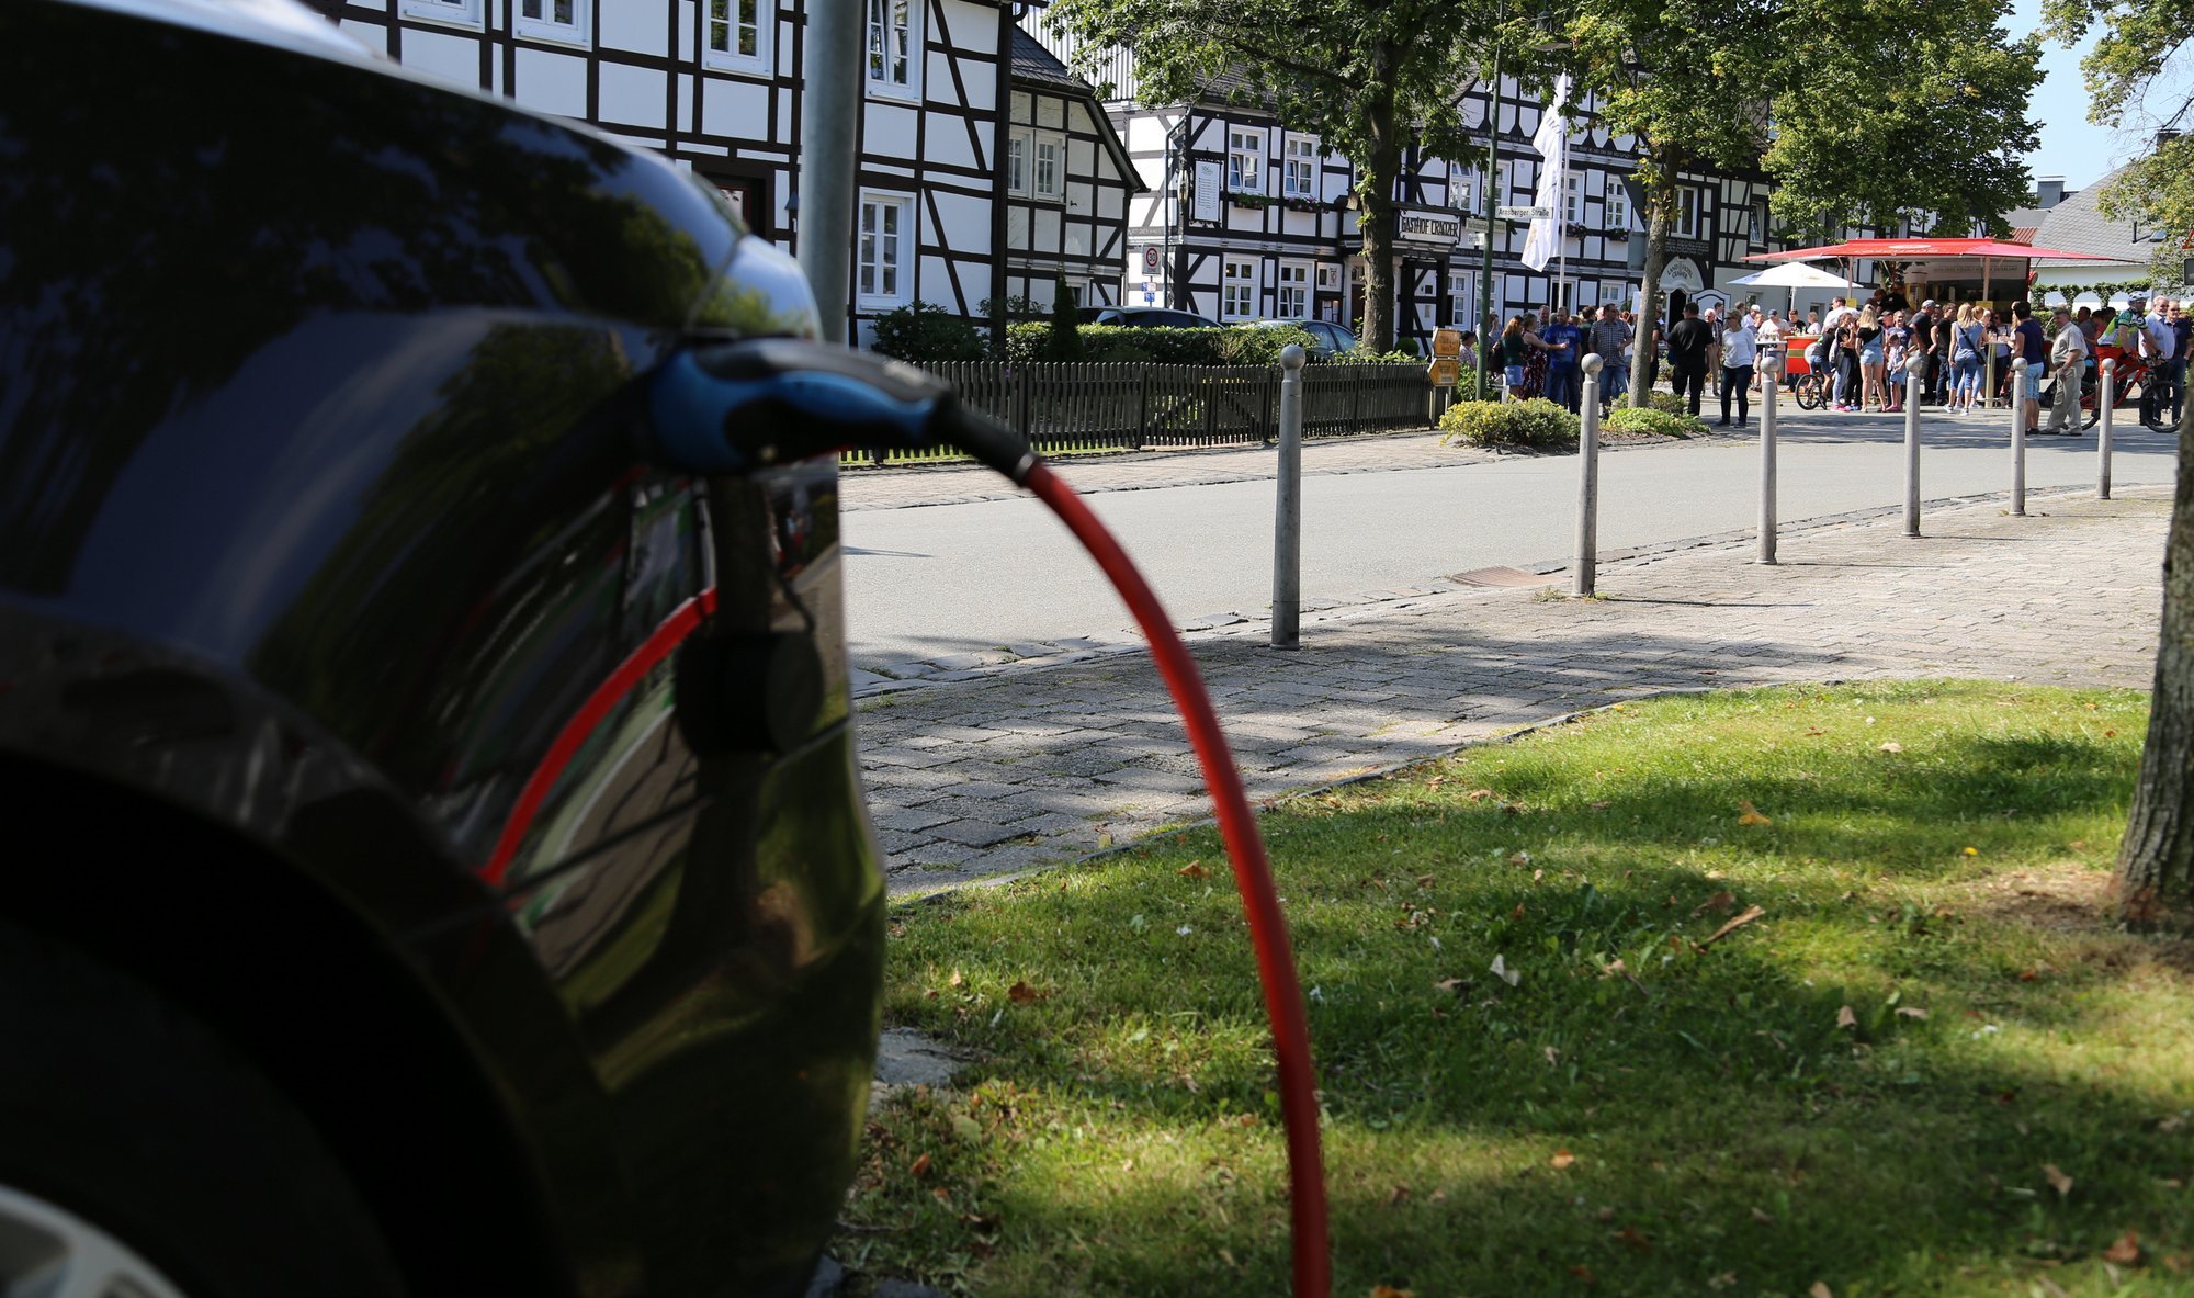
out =
{"type": "MultiPolygon", "coordinates": [[[[1520,311],[1494,329],[1485,322],[1488,368],[1499,375],[1507,399],[1545,397],[1575,414],[1580,401],[1577,362],[1597,353],[1599,401],[1613,408],[1630,384],[1630,353],[1639,322],[1615,303],[1584,307],[1571,316],[1560,305],[1520,311]]],[[[2133,298],[2113,307],[2056,309],[2045,327],[2027,303],[1997,311],[1983,303],[1944,305],[1922,300],[1911,307],[1896,287],[1874,289],[1865,303],[1834,298],[1825,311],[1792,314],[1749,305],[1729,311],[1687,303],[1670,329],[1652,329],[1648,382],[1659,382],[1665,351],[1672,388],[1689,412],[1700,412],[1705,392],[1720,397],[1720,423],[1751,419],[1751,397],[1760,390],[1760,357],[1773,355],[1790,338],[1812,338],[1803,360],[1828,375],[1828,408],[1836,412],[1900,412],[1907,386],[1920,377],[1920,403],[1950,414],[1977,414],[1994,395],[2025,403],[2027,430],[2078,434],[2082,392],[2093,388],[2097,360],[2124,357],[2122,371],[2141,373],[2139,417],[2144,425],[2176,425],[2185,388],[2187,349],[2194,320],[2185,303],[2133,298]],[[2049,425],[2040,423],[2040,395],[2054,382],[2049,425]]],[[[1479,333],[1463,333],[1468,364],[1474,366],[1479,333]]],[[[1788,373],[1784,382],[1795,384],[1788,373]]]]}

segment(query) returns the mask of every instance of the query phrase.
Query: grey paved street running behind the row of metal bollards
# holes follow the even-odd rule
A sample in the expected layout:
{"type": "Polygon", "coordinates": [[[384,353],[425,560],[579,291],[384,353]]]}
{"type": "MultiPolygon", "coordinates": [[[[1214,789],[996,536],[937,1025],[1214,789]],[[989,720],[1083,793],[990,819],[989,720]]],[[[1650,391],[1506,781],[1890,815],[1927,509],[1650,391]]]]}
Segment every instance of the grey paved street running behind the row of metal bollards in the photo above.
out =
{"type": "MultiPolygon", "coordinates": [[[[2008,419],[1924,417],[1929,500],[2010,482],[2008,419]]],[[[1602,458],[1602,550],[1749,531],[1755,439],[1610,449],[1602,458]]],[[[2034,439],[2034,487],[2089,485],[2095,441],[2034,439]]],[[[1455,590],[1490,566],[1564,563],[1575,528],[1573,454],[1439,447],[1433,434],[1305,447],[1303,599],[1354,605],[1380,592],[1455,590]]],[[[1902,500],[1902,419],[1797,417],[1782,439],[1786,522],[1902,500]]],[[[1185,625],[1264,618],[1270,603],[1273,465],[1264,447],[1068,460],[1167,607],[1185,625]]],[[[2168,436],[2122,430],[2117,480],[2168,482],[2168,436]]],[[[996,476],[963,469],[847,474],[847,636],[869,688],[1000,658],[1051,658],[1132,638],[1119,599],[1049,511],[996,476]],[[921,504],[921,509],[913,509],[921,504]]]]}

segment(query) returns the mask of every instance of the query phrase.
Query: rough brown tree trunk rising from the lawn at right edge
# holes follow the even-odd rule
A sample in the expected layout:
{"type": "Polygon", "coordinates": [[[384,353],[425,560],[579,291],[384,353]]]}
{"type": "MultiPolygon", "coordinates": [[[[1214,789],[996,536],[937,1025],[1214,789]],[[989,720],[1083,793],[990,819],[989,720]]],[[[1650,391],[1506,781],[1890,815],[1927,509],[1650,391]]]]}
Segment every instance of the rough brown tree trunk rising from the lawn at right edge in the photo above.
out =
{"type": "Polygon", "coordinates": [[[2194,403],[2179,421],[2179,496],[2163,546],[2157,684],[2113,888],[2117,916],[2128,927],[2194,912],[2194,403]]]}

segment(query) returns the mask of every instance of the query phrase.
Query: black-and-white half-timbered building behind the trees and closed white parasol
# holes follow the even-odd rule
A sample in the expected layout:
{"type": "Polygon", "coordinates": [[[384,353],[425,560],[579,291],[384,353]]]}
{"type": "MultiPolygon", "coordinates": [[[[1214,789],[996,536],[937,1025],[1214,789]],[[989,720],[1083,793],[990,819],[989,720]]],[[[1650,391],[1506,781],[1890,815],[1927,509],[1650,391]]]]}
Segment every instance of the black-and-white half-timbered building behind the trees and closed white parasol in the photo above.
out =
{"type": "MultiPolygon", "coordinates": [[[[1053,55],[1075,61],[1075,42],[1042,11],[1020,20],[1053,55]]],[[[1323,140],[1290,132],[1244,86],[1218,81],[1191,103],[1139,99],[1128,50],[1099,50],[1093,75],[1110,92],[1128,153],[1150,191],[1130,204],[1126,300],[1200,311],[1215,320],[1312,316],[1362,318],[1365,267],[1354,167],[1323,140]]],[[[1503,79],[1463,88],[1459,112],[1470,147],[1441,158],[1409,147],[1395,180],[1395,322],[1400,335],[1437,324],[1472,327],[1492,248],[1492,311],[1560,303],[1635,307],[1646,254],[1639,195],[1626,184],[1639,143],[1615,134],[1586,101],[1569,132],[1560,204],[1560,257],[1545,270],[1523,263],[1525,221],[1494,215],[1531,206],[1540,178],[1534,147],[1547,105],[1503,79]],[[1488,149],[1499,162],[1488,175],[1488,149]]],[[[1760,270],[1744,259],[1788,248],[1768,221],[1762,173],[1687,171],[1661,272],[1663,307],[1727,305],[1753,294],[1733,285],[1760,270]]],[[[1896,232],[1896,230],[1891,230],[1896,232]]],[[[1782,303],[1775,303],[1782,305],[1782,303]]],[[[1799,303],[1803,309],[1806,303],[1799,303]]]]}

